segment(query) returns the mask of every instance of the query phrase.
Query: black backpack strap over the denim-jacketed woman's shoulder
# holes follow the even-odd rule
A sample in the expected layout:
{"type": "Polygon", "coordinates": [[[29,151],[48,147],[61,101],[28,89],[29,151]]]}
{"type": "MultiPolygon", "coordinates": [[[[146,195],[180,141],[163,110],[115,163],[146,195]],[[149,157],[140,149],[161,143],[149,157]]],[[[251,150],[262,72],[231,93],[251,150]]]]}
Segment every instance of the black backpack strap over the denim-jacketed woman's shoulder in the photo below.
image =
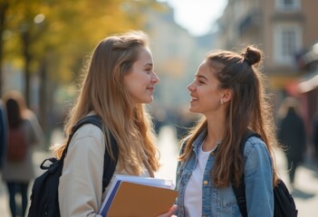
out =
{"type": "MultiPolygon", "coordinates": [[[[244,157],[244,150],[246,147],[246,141],[249,137],[261,137],[259,134],[255,133],[253,130],[248,129],[245,136],[242,138],[240,143],[240,152],[244,157]]],[[[246,209],[246,184],[244,181],[244,172],[240,178],[239,186],[236,188],[236,185],[232,184],[234,193],[236,194],[236,201],[239,207],[239,210],[243,217],[247,217],[246,209]]]]}

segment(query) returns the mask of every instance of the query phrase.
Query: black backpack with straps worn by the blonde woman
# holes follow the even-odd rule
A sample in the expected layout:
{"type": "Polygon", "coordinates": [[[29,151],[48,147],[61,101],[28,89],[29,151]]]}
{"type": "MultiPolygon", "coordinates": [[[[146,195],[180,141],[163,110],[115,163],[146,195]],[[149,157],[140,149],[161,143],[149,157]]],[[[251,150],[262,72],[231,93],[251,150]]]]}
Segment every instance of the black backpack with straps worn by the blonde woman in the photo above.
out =
{"type": "MultiPolygon", "coordinates": [[[[61,159],[54,157],[45,159],[40,165],[41,169],[46,170],[43,175],[38,176],[34,180],[34,185],[31,193],[31,205],[28,213],[28,217],[59,217],[60,208],[58,202],[58,186],[59,179],[62,175],[64,157],[68,146],[71,142],[72,136],[75,131],[82,127],[84,124],[93,124],[102,129],[102,121],[98,116],[88,116],[82,118],[74,127],[72,127],[72,133],[68,138],[67,145],[63,150],[61,159]],[[51,162],[50,165],[44,165],[46,161],[51,162]]],[[[102,191],[105,191],[106,186],[111,182],[111,176],[115,172],[115,167],[118,158],[118,146],[115,138],[110,134],[111,149],[115,156],[115,161],[111,159],[111,156],[105,151],[104,155],[104,170],[102,175],[102,191]]]]}

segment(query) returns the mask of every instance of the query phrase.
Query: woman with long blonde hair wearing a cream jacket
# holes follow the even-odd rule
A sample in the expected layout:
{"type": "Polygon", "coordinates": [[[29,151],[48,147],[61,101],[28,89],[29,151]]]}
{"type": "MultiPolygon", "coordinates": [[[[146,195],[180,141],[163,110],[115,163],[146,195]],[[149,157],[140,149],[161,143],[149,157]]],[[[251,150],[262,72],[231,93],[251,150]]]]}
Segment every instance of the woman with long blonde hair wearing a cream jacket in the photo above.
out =
{"type": "MultiPolygon", "coordinates": [[[[61,216],[100,216],[108,192],[102,193],[105,150],[112,156],[107,133],[119,148],[116,174],[153,176],[159,169],[153,128],[144,107],[153,100],[158,82],[145,33],[122,33],[98,43],[64,131],[70,134],[81,118],[98,115],[108,132],[87,124],[72,137],[59,184],[61,216]]],[[[53,147],[56,156],[62,155],[64,147],[53,147]]]]}

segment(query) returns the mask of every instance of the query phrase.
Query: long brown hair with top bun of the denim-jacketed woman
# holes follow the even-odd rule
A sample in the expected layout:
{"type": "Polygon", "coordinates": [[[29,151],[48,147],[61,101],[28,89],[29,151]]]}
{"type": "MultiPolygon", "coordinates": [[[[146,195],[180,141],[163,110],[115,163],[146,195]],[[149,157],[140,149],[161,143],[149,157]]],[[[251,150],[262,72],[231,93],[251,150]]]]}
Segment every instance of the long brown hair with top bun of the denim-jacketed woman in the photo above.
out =
{"type": "MultiPolygon", "coordinates": [[[[231,182],[239,184],[244,171],[244,159],[240,153],[240,141],[246,130],[252,129],[265,142],[274,162],[274,185],[277,184],[275,170],[274,146],[275,123],[270,99],[265,93],[265,76],[258,71],[261,51],[248,46],[242,55],[236,52],[211,52],[207,55],[210,68],[216,73],[220,89],[231,89],[232,99],[226,108],[226,129],[221,145],[217,149],[216,163],[211,171],[211,179],[217,187],[226,187],[231,182]]],[[[201,118],[198,125],[188,134],[183,155],[179,160],[185,161],[192,152],[192,144],[198,135],[207,128],[207,119],[201,118]]]]}

